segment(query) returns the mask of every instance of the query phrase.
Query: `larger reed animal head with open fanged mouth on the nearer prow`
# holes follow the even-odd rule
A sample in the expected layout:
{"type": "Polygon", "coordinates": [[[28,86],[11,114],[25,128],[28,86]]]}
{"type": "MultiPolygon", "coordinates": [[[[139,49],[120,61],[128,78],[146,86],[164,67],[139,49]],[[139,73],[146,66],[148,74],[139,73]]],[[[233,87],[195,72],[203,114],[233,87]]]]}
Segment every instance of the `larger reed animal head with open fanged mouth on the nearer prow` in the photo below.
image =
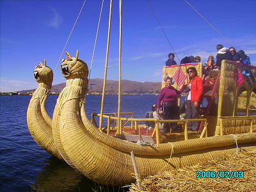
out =
{"type": "Polygon", "coordinates": [[[74,79],[78,77],[88,77],[87,64],[78,58],[78,51],[76,51],[76,58],[72,58],[66,52],[67,58],[62,60],[61,73],[66,79],[74,79]]]}

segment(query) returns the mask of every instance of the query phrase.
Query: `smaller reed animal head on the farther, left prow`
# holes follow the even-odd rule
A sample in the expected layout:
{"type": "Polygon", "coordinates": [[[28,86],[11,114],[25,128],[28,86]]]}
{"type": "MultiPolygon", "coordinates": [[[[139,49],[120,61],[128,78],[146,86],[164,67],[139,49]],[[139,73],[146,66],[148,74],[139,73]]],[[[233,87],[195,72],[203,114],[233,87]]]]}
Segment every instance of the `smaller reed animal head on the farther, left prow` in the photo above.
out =
{"type": "Polygon", "coordinates": [[[46,66],[46,61],[44,60],[44,65],[40,62],[34,70],[34,77],[38,83],[52,83],[53,72],[50,67],[46,66]]]}

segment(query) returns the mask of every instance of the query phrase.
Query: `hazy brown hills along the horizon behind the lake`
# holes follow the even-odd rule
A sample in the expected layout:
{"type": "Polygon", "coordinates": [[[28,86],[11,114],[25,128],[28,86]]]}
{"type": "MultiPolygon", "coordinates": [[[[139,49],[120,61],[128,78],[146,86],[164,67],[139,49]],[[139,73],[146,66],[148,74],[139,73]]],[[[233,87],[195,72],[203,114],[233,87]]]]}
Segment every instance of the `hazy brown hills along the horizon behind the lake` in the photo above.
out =
{"type": "MultiPolygon", "coordinates": [[[[65,88],[66,83],[52,85],[51,92],[60,93],[65,88]]],[[[89,94],[101,94],[103,86],[103,79],[90,79],[89,81],[89,94]]],[[[122,80],[122,93],[124,94],[156,94],[161,90],[161,82],[138,82],[122,80]]],[[[19,93],[35,92],[33,90],[22,90],[19,93]]],[[[118,81],[107,80],[106,94],[118,93],[118,81]]]]}

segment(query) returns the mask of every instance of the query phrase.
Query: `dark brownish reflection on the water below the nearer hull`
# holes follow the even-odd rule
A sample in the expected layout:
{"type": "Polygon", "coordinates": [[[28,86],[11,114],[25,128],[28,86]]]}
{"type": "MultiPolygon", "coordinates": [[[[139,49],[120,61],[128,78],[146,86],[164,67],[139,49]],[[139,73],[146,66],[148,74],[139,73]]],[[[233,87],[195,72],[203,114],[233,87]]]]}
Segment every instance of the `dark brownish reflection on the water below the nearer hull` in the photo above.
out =
{"type": "Polygon", "coordinates": [[[81,173],[60,161],[50,157],[45,161],[44,170],[38,174],[31,191],[127,191],[127,188],[102,186],[87,179],[81,173]]]}

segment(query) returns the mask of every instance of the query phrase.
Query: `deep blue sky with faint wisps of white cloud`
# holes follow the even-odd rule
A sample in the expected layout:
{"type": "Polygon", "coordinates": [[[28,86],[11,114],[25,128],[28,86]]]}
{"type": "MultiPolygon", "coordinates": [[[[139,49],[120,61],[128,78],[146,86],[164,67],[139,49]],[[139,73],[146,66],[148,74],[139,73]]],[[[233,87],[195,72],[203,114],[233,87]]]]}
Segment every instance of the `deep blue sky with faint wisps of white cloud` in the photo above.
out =
{"type": "MultiPolygon", "coordinates": [[[[108,79],[118,80],[118,1],[113,0],[113,24],[109,48],[108,79]]],[[[83,0],[28,1],[1,0],[0,92],[37,88],[33,70],[44,59],[56,68],[83,0]]],[[[216,45],[237,51],[243,49],[256,65],[256,1],[188,2],[207,19],[228,42],[182,0],[149,0],[157,19],[177,56],[216,56],[216,45]]],[[[87,0],[65,51],[90,67],[100,13],[101,0],[87,0]]],[[[104,77],[108,36],[109,0],[104,1],[91,78],[104,77]]],[[[161,81],[161,69],[173,52],[148,6],[147,0],[123,0],[122,79],[161,81]]],[[[65,58],[65,54],[61,58],[65,58]]],[[[178,59],[179,58],[179,59],[178,59]]],[[[64,83],[60,64],[52,84],[64,83]]]]}

